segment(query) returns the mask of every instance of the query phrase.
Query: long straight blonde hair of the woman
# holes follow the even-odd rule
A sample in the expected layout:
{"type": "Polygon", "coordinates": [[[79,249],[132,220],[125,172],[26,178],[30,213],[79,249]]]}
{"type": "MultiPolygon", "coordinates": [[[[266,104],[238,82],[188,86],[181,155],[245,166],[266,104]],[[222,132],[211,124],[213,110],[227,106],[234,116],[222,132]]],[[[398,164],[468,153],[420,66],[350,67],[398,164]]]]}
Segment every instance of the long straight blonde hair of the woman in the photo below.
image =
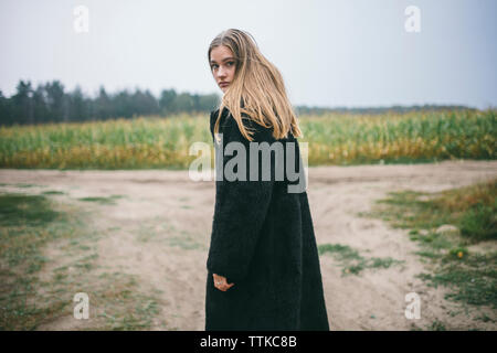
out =
{"type": "Polygon", "coordinates": [[[236,61],[233,82],[226,89],[219,107],[214,133],[219,132],[220,118],[226,107],[240,131],[252,141],[242,122],[242,114],[265,128],[273,127],[275,139],[287,138],[292,130],[294,137],[303,137],[297,117],[286,95],[282,74],[258,50],[254,38],[244,31],[229,29],[215,36],[209,45],[211,51],[220,45],[229,47],[236,61]]]}

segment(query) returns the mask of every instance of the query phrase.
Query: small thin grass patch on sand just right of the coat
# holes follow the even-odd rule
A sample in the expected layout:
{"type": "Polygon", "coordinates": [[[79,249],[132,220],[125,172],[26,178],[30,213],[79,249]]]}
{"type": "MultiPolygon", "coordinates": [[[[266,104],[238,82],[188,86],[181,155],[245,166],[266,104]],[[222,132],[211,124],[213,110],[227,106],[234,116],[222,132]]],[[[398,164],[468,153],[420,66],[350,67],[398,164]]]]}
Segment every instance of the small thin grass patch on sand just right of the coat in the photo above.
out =
{"type": "Polygon", "coordinates": [[[321,244],[318,246],[319,255],[331,254],[336,260],[342,266],[341,275],[359,275],[367,268],[389,268],[392,265],[402,264],[404,261],[395,260],[391,257],[370,257],[366,258],[348,245],[341,244],[321,244]]]}

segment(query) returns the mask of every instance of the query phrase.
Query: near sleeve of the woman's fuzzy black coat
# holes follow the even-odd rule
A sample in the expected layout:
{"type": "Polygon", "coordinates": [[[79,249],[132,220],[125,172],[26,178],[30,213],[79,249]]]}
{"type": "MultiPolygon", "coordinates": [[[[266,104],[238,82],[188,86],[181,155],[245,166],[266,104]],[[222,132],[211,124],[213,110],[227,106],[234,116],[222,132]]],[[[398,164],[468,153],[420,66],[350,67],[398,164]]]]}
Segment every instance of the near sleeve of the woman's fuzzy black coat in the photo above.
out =
{"type": "MultiPolygon", "coordinates": [[[[261,178],[262,158],[258,154],[260,178],[251,181],[250,176],[250,141],[245,139],[233,118],[228,122],[229,129],[223,133],[223,147],[237,141],[245,148],[246,175],[245,180],[226,180],[225,175],[216,180],[214,216],[212,223],[211,244],[207,267],[213,274],[224,276],[229,281],[243,279],[250,268],[261,229],[266,218],[274,186],[274,161],[271,163],[272,178],[263,181],[261,178]]],[[[250,121],[250,120],[248,120],[250,121]]],[[[272,143],[272,132],[255,122],[250,121],[252,130],[255,128],[253,142],[272,143]]],[[[224,154],[222,167],[235,158],[224,154]]],[[[216,161],[218,163],[218,161],[216,161]]],[[[236,170],[235,170],[236,171],[236,170]]]]}

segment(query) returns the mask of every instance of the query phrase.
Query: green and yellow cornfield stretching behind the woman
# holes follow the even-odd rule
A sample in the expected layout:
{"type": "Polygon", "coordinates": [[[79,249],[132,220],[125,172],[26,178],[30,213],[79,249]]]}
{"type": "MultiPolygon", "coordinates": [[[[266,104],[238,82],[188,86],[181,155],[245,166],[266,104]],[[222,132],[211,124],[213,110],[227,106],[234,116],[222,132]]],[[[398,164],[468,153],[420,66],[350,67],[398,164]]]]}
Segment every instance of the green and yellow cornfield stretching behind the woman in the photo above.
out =
{"type": "MultiPolygon", "coordinates": [[[[496,110],[300,116],[308,165],[496,159],[496,110]]],[[[0,128],[1,168],[188,169],[209,115],[0,128]]]]}

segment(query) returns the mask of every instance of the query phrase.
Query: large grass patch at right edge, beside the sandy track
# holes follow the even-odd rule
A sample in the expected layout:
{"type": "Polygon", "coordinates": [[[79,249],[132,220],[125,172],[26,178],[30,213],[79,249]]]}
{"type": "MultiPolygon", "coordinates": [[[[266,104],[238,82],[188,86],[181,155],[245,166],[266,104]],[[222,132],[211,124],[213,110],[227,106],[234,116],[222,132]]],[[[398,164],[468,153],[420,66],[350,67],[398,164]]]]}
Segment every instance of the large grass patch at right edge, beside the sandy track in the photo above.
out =
{"type": "MultiPolygon", "coordinates": [[[[429,286],[445,286],[446,299],[497,308],[497,252],[469,252],[468,245],[497,240],[497,180],[435,194],[394,192],[376,205],[372,215],[410,229],[432,272],[420,274],[429,286]],[[459,233],[441,233],[444,224],[459,233]]],[[[436,328],[435,328],[436,329],[436,328]]]]}

